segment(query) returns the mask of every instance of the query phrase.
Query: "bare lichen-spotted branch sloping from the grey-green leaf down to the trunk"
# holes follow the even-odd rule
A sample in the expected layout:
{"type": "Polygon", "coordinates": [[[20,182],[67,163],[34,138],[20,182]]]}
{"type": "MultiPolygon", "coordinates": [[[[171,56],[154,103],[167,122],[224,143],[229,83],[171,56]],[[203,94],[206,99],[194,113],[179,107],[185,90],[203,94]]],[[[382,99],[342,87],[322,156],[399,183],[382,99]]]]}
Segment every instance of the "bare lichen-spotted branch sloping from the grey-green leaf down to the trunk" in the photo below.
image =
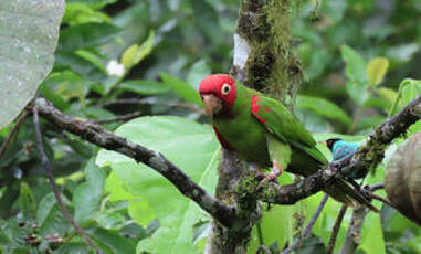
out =
{"type": "Polygon", "coordinates": [[[211,197],[161,154],[116,136],[98,125],[65,115],[44,98],[36,98],[33,104],[42,117],[60,128],[98,147],[120,152],[155,169],[167,178],[183,195],[193,200],[223,225],[229,227],[234,222],[236,215],[232,207],[225,205],[211,197]]]}

